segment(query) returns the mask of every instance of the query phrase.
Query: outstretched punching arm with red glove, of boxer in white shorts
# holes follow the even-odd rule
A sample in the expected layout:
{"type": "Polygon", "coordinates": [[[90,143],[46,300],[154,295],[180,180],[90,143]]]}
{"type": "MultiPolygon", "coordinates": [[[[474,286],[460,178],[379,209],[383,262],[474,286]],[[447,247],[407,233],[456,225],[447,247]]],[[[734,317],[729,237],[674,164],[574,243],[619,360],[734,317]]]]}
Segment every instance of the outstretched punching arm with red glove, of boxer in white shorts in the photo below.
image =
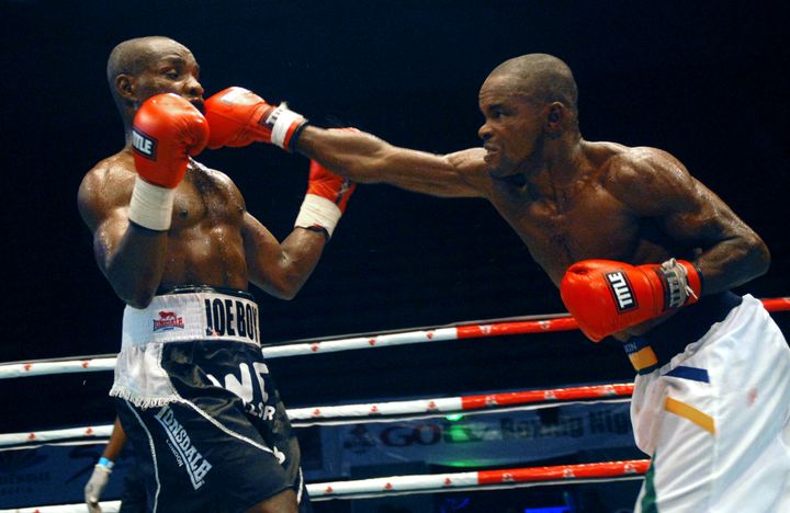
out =
{"type": "Polygon", "coordinates": [[[227,88],[205,102],[210,148],[273,144],[317,160],[354,182],[384,182],[437,196],[487,197],[490,179],[483,148],[447,156],[397,148],[360,132],[311,126],[285,104],[275,107],[244,88],[227,88]]]}

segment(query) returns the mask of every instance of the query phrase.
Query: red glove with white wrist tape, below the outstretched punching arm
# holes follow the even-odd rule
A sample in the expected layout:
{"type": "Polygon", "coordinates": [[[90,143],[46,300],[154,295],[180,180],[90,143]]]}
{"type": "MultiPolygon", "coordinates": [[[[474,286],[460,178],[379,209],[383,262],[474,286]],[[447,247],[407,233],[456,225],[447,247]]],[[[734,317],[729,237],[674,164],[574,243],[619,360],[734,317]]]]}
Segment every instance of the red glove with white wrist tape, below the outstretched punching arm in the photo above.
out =
{"type": "Polygon", "coordinates": [[[307,194],[296,216],[297,228],[324,229],[331,237],[357,184],[311,160],[307,194]]]}

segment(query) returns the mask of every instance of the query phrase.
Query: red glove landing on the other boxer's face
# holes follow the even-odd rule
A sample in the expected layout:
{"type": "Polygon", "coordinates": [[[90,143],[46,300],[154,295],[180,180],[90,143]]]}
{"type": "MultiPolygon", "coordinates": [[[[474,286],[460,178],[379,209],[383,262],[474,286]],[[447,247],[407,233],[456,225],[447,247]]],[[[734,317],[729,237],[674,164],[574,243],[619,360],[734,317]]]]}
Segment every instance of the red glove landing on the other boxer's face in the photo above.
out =
{"type": "Polygon", "coordinates": [[[205,101],[205,116],[211,126],[208,148],[247,146],[256,141],[291,150],[294,137],[307,119],[287,109],[268,104],[244,88],[227,88],[205,101]]]}

